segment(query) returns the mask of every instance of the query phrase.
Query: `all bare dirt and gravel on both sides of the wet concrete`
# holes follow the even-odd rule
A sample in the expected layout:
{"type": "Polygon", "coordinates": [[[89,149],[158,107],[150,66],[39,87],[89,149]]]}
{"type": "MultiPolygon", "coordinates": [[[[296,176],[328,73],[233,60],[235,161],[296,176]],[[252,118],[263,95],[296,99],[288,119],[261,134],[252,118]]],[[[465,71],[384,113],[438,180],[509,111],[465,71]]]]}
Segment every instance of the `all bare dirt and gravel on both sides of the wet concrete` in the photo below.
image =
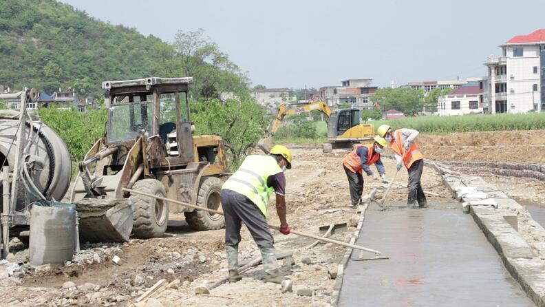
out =
{"type": "MultiPolygon", "coordinates": [[[[425,158],[439,161],[500,161],[545,164],[545,131],[502,131],[448,136],[420,136],[425,158]],[[536,148],[529,153],[529,148],[536,148]],[[467,148],[466,148],[467,147],[467,148]],[[489,149],[489,147],[493,147],[489,149]],[[469,154],[471,153],[471,154],[469,154]]],[[[336,240],[350,240],[359,216],[350,206],[348,180],[341,160],[346,151],[323,154],[321,149],[293,149],[293,167],[286,172],[288,223],[292,229],[319,234],[319,226],[347,222],[348,231],[332,235],[336,240]]],[[[387,153],[391,153],[387,152],[387,153]]],[[[392,178],[395,161],[383,159],[387,178],[392,178]]],[[[372,167],[374,169],[374,167],[372,167]]],[[[526,178],[484,178],[498,184],[508,195],[528,202],[544,204],[544,182],[526,178]]],[[[430,200],[445,200],[450,193],[431,167],[425,167],[422,184],[433,193],[444,195],[430,200]]],[[[407,182],[407,172],[400,171],[396,182],[407,182]]],[[[383,183],[365,176],[363,193],[383,183]]],[[[376,198],[382,198],[378,189],[376,198]]],[[[404,201],[406,188],[393,189],[389,201],[404,201]]],[[[271,204],[270,208],[274,208],[271,204]]],[[[279,224],[274,209],[269,222],[279,224]]],[[[525,213],[527,214],[527,212],[525,213]]],[[[164,237],[130,240],[125,244],[84,244],[82,252],[63,268],[30,268],[21,278],[2,278],[0,299],[9,306],[131,306],[160,279],[179,284],[162,291],[148,306],[329,306],[336,277],[336,266],[345,248],[318,244],[297,235],[273,231],[277,253],[293,252],[295,262],[279,260],[281,271],[293,281],[293,291],[281,292],[281,286],[264,283],[265,273],[257,266],[242,275],[241,282],[223,284],[209,295],[195,295],[194,289],[212,284],[226,276],[224,231],[192,231],[183,215],[171,215],[164,237]],[[111,260],[120,257],[119,264],[111,260]],[[155,305],[153,305],[155,304],[155,305]]],[[[526,230],[524,230],[526,231],[526,230]]],[[[542,233],[528,237],[543,242],[542,233]]],[[[12,261],[24,263],[28,250],[15,240],[12,261]]],[[[366,246],[377,250],[381,246],[366,246]]],[[[539,246],[542,249],[545,246],[539,246]]],[[[372,255],[372,254],[371,254],[372,255]]],[[[544,253],[545,255],[545,253],[544,253]]],[[[259,249],[246,227],[239,246],[241,261],[259,256],[259,249]]],[[[24,270],[23,270],[24,271],[24,270]]],[[[1,273],[1,272],[0,272],[1,273]]],[[[142,304],[141,306],[146,306],[142,304]]]]}

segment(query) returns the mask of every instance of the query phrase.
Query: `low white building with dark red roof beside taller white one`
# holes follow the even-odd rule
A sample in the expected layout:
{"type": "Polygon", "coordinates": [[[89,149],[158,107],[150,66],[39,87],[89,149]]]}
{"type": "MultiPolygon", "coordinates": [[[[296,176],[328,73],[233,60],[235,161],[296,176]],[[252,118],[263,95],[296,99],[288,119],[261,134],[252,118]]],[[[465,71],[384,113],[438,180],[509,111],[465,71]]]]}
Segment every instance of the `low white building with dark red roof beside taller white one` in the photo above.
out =
{"type": "Polygon", "coordinates": [[[482,113],[482,102],[479,100],[480,86],[461,86],[450,94],[439,96],[437,112],[439,116],[464,115],[482,113]]]}

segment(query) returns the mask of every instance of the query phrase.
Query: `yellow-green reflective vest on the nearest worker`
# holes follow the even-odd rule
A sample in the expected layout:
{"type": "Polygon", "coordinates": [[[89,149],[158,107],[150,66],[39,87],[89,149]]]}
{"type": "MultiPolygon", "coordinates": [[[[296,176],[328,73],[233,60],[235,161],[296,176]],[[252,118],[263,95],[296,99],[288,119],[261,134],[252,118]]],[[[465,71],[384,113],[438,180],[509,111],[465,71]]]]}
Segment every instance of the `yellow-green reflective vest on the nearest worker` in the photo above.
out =
{"type": "Polygon", "coordinates": [[[271,156],[247,156],[239,169],[223,184],[222,190],[231,190],[246,196],[267,217],[267,204],[273,187],[267,187],[268,176],[281,173],[278,162],[271,156]]]}

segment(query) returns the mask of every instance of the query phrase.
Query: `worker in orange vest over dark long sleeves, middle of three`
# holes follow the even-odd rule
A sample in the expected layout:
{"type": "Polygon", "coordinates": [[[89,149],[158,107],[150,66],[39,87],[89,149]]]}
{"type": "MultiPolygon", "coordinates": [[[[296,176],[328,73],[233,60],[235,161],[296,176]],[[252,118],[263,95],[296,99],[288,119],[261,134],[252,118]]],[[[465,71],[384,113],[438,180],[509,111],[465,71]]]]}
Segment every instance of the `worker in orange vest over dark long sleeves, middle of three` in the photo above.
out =
{"type": "Polygon", "coordinates": [[[356,208],[361,203],[361,193],[363,193],[363,171],[367,176],[373,176],[378,180],[378,175],[369,168],[375,164],[376,170],[385,180],[384,165],[381,161],[381,152],[386,147],[386,140],[380,136],[374,137],[374,143],[370,145],[358,145],[343,158],[343,167],[348,177],[348,187],[350,188],[350,199],[352,207],[356,208]]]}

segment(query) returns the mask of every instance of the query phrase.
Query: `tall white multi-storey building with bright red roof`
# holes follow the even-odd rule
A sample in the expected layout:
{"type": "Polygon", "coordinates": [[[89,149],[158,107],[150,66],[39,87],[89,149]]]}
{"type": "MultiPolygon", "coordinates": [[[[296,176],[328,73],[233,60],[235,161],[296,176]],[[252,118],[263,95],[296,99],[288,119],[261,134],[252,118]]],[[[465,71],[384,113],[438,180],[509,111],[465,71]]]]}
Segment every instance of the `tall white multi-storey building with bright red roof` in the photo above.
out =
{"type": "Polygon", "coordinates": [[[500,45],[502,56],[484,63],[482,81],[486,113],[524,113],[545,110],[545,29],[514,36],[500,45]]]}

